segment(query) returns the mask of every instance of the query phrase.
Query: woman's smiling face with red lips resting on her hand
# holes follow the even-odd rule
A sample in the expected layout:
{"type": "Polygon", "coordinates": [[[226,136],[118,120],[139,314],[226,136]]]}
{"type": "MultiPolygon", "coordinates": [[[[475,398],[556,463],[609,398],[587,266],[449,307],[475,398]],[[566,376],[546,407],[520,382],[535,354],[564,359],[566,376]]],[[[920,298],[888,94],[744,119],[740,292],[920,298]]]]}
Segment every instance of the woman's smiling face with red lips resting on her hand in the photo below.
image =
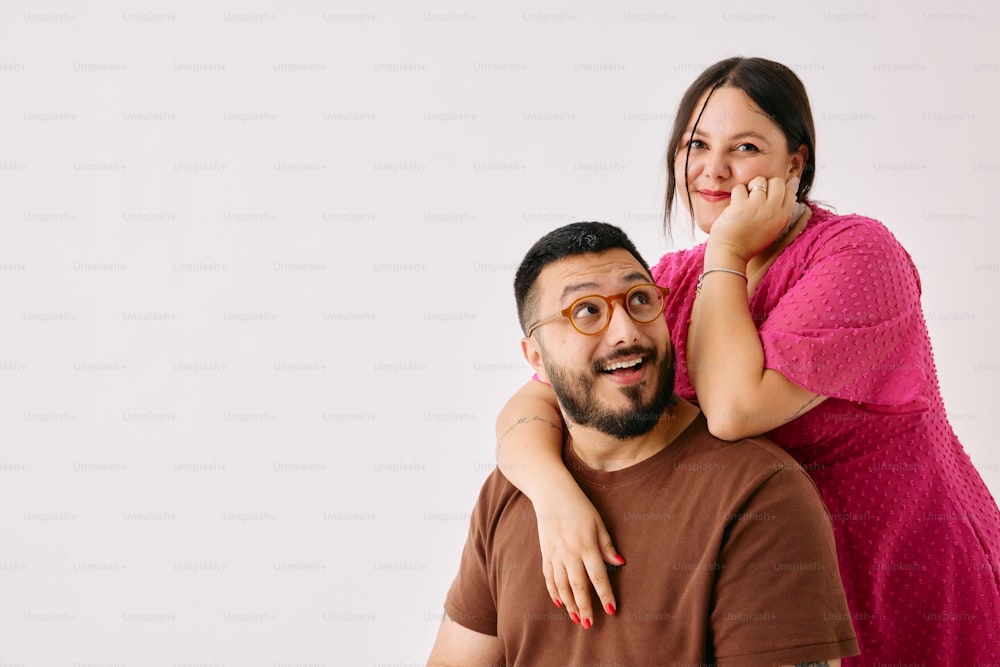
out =
{"type": "Polygon", "coordinates": [[[729,206],[729,193],[737,183],[746,185],[757,176],[786,181],[801,176],[808,149],[803,145],[788,152],[781,128],[739,88],[721,87],[712,93],[691,138],[691,128],[708,96],[702,95],[688,119],[674,161],[677,193],[706,234],[729,206]],[[687,157],[690,140],[691,154],[687,157]],[[687,159],[687,178],[684,161],[687,159]]]}

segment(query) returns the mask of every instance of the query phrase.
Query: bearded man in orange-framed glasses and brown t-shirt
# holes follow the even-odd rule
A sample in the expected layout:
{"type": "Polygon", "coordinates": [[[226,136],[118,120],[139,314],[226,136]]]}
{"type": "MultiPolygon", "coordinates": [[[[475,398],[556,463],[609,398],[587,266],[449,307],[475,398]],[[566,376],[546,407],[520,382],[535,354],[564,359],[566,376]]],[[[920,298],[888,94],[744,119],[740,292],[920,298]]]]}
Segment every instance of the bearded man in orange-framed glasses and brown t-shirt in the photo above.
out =
{"type": "Polygon", "coordinates": [[[839,665],[857,653],[816,488],[766,440],[714,438],[673,394],[667,290],[651,283],[603,223],[546,235],[515,280],[525,358],[566,419],[567,467],[629,545],[610,573],[627,606],[585,630],[551,606],[531,503],[495,471],[430,665],[839,665]]]}

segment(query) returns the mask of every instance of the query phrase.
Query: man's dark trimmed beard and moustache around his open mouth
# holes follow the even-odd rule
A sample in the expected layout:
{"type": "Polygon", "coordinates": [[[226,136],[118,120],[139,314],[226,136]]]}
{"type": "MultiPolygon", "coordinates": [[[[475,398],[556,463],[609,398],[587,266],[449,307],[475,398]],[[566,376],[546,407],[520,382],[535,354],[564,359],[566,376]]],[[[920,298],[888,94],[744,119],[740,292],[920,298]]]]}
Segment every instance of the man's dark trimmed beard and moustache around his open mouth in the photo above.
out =
{"type": "Polygon", "coordinates": [[[667,354],[659,359],[655,349],[634,346],[595,362],[590,369],[581,373],[571,374],[555,366],[546,366],[545,370],[566,417],[580,426],[595,428],[619,440],[627,440],[652,430],[663,412],[673,405],[673,351],[668,346],[667,354]],[[637,354],[645,355],[643,365],[647,366],[647,379],[639,384],[620,388],[630,405],[618,411],[602,405],[594,392],[597,376],[603,372],[601,367],[616,359],[634,357],[637,354]],[[651,381],[656,384],[649,399],[643,403],[643,389],[651,381]]]}

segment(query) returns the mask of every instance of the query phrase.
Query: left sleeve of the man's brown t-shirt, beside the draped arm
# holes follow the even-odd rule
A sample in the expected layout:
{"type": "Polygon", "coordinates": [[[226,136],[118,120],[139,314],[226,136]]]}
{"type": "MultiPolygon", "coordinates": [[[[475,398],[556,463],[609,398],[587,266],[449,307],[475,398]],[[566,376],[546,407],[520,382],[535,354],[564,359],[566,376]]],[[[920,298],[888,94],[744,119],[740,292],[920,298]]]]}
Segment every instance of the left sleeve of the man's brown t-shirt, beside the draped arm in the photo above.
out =
{"type": "Polygon", "coordinates": [[[444,609],[453,621],[484,635],[497,635],[496,581],[489,574],[488,531],[492,499],[498,483],[494,473],[483,484],[469,521],[458,574],[448,590],[444,609]]]}

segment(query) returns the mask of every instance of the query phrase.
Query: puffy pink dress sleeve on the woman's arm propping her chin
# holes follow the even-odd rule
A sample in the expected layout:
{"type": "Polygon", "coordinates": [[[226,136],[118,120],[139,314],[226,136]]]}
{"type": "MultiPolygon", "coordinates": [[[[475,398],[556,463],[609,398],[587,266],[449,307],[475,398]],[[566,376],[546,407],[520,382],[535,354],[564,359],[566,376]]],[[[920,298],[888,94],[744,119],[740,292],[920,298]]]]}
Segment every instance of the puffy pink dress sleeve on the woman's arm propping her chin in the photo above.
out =
{"type": "Polygon", "coordinates": [[[913,261],[875,220],[822,224],[832,231],[777,276],[784,290],[759,328],[765,367],[823,396],[926,409],[932,369],[913,261]]]}

